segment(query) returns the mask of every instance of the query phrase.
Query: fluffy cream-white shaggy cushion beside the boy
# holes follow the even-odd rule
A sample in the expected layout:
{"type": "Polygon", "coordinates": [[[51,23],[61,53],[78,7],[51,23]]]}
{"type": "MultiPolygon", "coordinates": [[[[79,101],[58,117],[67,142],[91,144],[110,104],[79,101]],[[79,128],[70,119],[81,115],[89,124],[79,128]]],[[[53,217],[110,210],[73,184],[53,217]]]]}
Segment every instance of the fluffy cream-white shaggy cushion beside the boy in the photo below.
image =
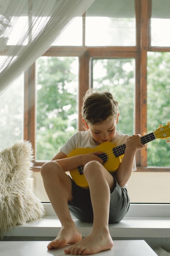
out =
{"type": "Polygon", "coordinates": [[[0,152],[0,236],[16,225],[45,215],[30,188],[33,150],[29,141],[16,142],[0,152]]]}

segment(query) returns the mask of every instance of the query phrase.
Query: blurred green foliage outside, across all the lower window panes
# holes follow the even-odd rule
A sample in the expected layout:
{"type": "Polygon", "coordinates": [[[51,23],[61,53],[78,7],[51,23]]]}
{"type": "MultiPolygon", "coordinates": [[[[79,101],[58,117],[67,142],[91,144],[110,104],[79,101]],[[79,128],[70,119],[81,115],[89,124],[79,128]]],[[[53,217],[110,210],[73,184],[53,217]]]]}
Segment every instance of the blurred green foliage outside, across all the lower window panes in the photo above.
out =
{"type": "MultiPolygon", "coordinates": [[[[37,61],[36,159],[49,160],[77,130],[78,60],[41,57],[37,61]]],[[[170,121],[170,53],[148,53],[147,131],[170,121]]],[[[93,60],[93,87],[119,102],[120,132],[134,133],[134,60],[93,60]]],[[[0,97],[1,149],[23,137],[23,77],[0,97]],[[12,104],[11,104],[12,102],[12,104]]],[[[147,144],[148,166],[170,166],[170,144],[147,144]]]]}

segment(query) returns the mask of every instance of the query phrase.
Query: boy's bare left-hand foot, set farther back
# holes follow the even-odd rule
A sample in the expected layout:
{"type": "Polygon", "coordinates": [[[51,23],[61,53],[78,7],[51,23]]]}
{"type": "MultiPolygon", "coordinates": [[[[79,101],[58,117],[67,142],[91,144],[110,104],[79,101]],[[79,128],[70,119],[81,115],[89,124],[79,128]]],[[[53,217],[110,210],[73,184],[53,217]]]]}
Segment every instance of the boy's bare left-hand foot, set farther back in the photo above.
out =
{"type": "Polygon", "coordinates": [[[63,226],[55,240],[51,241],[47,248],[60,248],[67,244],[74,244],[82,240],[82,235],[79,233],[75,225],[63,226]]]}

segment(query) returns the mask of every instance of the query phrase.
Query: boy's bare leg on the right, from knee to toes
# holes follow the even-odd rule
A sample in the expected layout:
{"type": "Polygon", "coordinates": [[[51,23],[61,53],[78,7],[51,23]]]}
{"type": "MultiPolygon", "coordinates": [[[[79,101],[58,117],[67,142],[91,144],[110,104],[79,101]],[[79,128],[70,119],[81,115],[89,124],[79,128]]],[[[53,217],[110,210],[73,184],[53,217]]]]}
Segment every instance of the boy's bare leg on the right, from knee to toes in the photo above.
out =
{"type": "Polygon", "coordinates": [[[113,240],[108,229],[108,218],[110,190],[114,188],[114,179],[97,161],[89,162],[84,166],[84,175],[91,193],[93,229],[89,236],[66,249],[66,254],[95,254],[113,247],[113,240]]]}

